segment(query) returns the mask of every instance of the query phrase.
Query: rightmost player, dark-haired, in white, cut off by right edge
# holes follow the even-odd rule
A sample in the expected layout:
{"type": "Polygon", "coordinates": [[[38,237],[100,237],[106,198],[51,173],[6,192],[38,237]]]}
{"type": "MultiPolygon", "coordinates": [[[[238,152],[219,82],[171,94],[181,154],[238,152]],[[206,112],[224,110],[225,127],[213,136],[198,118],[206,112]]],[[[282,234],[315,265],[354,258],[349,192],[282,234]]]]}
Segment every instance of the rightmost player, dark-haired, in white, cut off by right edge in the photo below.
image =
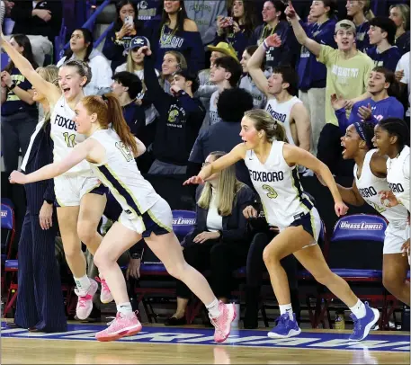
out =
{"type": "MultiPolygon", "coordinates": [[[[380,155],[389,156],[387,160],[387,182],[389,191],[380,191],[381,201],[385,205],[402,204],[409,216],[409,127],[404,120],[387,118],[380,120],[374,129],[372,139],[380,155]]],[[[404,248],[411,263],[409,252],[410,227],[407,226],[407,243],[404,248]]],[[[408,284],[409,290],[409,284],[408,284]]]]}

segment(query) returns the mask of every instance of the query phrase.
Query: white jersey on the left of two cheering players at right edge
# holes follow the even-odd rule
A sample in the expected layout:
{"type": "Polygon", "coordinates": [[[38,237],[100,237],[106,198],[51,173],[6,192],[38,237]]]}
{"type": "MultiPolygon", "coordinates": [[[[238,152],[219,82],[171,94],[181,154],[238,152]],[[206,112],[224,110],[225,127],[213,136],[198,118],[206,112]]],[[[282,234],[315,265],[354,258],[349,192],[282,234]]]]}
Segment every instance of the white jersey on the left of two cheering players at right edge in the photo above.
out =
{"type": "Polygon", "coordinates": [[[360,178],[357,177],[358,166],[354,166],[354,179],[363,200],[375,210],[377,210],[382,216],[384,216],[389,223],[394,226],[405,224],[407,222],[407,209],[402,205],[397,207],[388,208],[382,205],[380,200],[380,191],[388,191],[389,183],[386,178],[377,177],[372,174],[370,162],[376,149],[371,149],[365,155],[364,163],[362,165],[362,173],[360,178]]]}

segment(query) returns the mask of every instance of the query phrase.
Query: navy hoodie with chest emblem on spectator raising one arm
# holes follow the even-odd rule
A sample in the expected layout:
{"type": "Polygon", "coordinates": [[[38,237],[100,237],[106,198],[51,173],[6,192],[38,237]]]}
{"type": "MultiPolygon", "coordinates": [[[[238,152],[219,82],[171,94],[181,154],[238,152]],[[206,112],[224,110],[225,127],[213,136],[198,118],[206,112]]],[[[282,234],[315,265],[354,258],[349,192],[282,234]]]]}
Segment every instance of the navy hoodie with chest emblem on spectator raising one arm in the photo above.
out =
{"type": "Polygon", "coordinates": [[[158,111],[153,153],[156,159],[173,165],[187,165],[206,111],[200,99],[183,90],[177,96],[165,93],[158,83],[152,56],[144,58],[147,93],[158,111]]]}

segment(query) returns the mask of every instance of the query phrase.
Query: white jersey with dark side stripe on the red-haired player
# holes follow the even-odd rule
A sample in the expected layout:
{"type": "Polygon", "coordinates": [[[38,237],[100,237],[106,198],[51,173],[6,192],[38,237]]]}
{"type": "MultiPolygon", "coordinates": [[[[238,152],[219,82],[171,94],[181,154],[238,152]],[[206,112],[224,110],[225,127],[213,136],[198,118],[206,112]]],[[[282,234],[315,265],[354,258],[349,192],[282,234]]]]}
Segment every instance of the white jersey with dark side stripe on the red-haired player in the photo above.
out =
{"type": "Polygon", "coordinates": [[[112,191],[122,209],[141,216],[160,197],[139,172],[132,152],[113,129],[97,130],[90,138],[105,148],[103,164],[90,163],[94,174],[112,191]]]}

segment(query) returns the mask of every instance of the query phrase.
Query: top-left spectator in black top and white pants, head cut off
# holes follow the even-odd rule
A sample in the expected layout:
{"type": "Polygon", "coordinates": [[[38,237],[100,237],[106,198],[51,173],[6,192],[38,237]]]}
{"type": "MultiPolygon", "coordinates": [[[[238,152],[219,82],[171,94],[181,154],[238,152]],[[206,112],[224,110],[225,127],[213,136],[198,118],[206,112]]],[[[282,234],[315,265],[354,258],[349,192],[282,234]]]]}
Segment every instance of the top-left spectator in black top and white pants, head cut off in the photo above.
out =
{"type": "Polygon", "coordinates": [[[11,8],[14,21],[13,34],[27,34],[38,65],[43,66],[45,56],[51,54],[52,43],[58,36],[63,19],[61,1],[17,0],[11,8]]]}

